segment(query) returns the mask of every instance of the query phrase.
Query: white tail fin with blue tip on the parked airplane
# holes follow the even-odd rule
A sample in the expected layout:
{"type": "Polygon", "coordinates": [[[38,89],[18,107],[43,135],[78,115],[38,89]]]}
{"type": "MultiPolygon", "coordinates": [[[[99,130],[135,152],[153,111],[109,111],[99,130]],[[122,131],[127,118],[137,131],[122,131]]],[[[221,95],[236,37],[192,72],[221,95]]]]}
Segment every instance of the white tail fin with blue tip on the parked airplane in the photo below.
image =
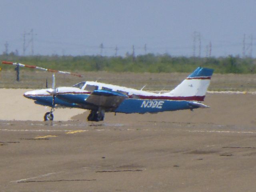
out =
{"type": "Polygon", "coordinates": [[[198,67],[171,92],[164,95],[181,100],[204,101],[213,69],[198,67]]]}

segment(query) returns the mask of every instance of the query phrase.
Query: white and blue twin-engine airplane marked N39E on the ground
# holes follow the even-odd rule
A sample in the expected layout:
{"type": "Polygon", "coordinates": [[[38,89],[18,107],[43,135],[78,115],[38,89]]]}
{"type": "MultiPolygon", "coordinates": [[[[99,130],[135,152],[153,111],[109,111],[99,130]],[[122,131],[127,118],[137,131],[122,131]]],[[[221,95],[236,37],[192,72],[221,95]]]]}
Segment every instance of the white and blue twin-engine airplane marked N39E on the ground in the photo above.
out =
{"type": "Polygon", "coordinates": [[[90,110],[88,121],[104,120],[105,112],[158,113],[208,108],[204,101],[213,69],[198,67],[176,88],[154,93],[100,82],[80,82],[72,87],[33,90],[24,93],[36,104],[52,107],[44,120],[53,120],[55,106],[90,110]]]}

